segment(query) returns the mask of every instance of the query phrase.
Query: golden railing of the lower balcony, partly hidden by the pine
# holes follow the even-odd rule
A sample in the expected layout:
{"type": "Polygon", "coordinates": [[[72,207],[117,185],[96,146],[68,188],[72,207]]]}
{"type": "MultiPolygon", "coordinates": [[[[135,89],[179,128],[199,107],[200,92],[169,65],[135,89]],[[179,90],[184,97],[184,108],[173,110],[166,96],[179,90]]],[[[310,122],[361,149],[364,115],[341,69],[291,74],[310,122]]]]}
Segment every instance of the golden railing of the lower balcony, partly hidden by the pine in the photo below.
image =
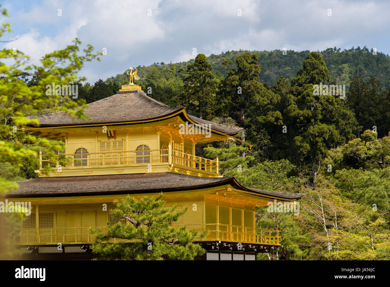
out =
{"type": "MultiPolygon", "coordinates": [[[[177,225],[176,227],[179,227],[177,225]]],[[[188,229],[208,230],[209,234],[204,239],[195,241],[227,241],[241,243],[257,243],[267,245],[280,245],[279,230],[257,229],[225,224],[193,224],[186,225],[188,229]]],[[[106,231],[105,227],[94,227],[94,229],[106,231]]],[[[28,244],[77,244],[91,243],[96,237],[90,235],[87,227],[58,227],[21,229],[18,235],[11,237],[11,242],[16,245],[28,244]]],[[[130,242],[126,239],[110,239],[110,242],[130,242]]]]}

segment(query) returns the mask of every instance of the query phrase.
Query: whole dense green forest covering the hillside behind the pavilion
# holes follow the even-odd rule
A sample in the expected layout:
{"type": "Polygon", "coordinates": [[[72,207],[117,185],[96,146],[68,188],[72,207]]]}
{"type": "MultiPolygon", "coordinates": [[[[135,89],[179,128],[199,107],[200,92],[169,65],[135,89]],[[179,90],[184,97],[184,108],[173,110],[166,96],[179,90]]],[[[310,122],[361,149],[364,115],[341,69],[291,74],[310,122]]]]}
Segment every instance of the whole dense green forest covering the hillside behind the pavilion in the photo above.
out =
{"type": "MultiPolygon", "coordinates": [[[[218,156],[221,175],[250,188],[306,193],[299,214],[257,209],[257,227],[281,230],[283,246],[259,259],[388,260],[390,60],[373,52],[198,54],[185,63],[138,67],[135,83],[162,103],[244,128],[237,138],[252,149],[235,142],[197,144],[197,155],[218,156]],[[320,83],[346,85],[346,97],[314,94],[320,83]]],[[[128,82],[124,72],[86,83],[79,97],[90,103],[128,82]]],[[[4,165],[1,175],[29,178],[36,164],[4,165]]]]}

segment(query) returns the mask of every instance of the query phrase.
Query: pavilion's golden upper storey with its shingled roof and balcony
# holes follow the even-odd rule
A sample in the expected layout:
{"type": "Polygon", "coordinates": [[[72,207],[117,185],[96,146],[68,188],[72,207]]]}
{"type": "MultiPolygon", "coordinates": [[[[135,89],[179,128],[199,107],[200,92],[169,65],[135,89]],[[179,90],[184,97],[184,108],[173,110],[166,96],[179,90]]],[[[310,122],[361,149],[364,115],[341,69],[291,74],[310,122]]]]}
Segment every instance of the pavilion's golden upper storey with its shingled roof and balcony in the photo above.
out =
{"type": "Polygon", "coordinates": [[[39,176],[80,176],[177,172],[218,177],[218,158],[195,155],[195,145],[220,140],[240,142],[242,128],[188,115],[147,96],[137,85],[123,85],[117,94],[87,105],[88,119],[65,112],[38,115],[30,133],[62,140],[65,152],[56,158],[40,153],[39,176]],[[44,174],[42,169],[52,167],[44,174]]]}

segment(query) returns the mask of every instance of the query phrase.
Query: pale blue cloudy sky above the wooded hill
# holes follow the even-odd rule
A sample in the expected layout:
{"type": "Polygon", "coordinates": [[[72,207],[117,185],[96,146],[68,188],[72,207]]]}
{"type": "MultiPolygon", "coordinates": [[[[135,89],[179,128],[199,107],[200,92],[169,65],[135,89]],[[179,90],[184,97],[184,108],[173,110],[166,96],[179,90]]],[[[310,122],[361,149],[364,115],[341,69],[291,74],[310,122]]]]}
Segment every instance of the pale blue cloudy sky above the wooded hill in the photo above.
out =
{"type": "Polygon", "coordinates": [[[34,63],[78,37],[101,62],[82,75],[94,83],[129,66],[181,62],[197,53],[227,50],[324,50],[375,47],[390,54],[390,1],[0,1],[18,37],[4,46],[23,51],[34,63]],[[58,16],[61,9],[62,16],[58,16]],[[332,16],[328,16],[332,9],[332,16]],[[241,13],[241,16],[239,14],[241,13]]]}

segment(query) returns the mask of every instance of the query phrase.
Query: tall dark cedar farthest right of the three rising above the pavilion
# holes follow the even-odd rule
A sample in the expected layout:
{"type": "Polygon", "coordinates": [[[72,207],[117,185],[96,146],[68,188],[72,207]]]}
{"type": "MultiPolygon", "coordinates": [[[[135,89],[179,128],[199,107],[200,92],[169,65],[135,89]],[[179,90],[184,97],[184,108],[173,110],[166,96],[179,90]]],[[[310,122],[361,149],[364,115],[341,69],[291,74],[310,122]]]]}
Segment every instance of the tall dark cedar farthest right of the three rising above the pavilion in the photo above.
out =
{"type": "Polygon", "coordinates": [[[303,61],[303,70],[291,80],[292,93],[287,110],[295,124],[290,131],[287,129],[287,133],[296,135],[294,146],[298,149],[301,162],[311,165],[313,182],[316,181],[327,148],[339,137],[335,125],[330,124],[332,119],[328,118],[332,115],[329,110],[335,106],[335,97],[321,93],[316,96],[313,93],[313,85],[326,84],[329,80],[328,68],[317,52],[307,56],[303,61]]]}

